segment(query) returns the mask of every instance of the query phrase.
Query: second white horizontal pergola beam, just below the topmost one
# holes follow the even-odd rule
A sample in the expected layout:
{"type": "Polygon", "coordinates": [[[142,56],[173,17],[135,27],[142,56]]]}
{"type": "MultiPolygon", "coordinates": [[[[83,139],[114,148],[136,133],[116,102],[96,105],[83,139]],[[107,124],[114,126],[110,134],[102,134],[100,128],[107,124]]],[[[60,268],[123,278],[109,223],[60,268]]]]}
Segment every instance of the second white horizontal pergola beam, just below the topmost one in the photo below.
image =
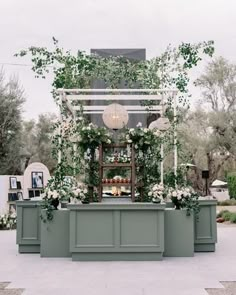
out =
{"type": "Polygon", "coordinates": [[[160,95],[67,95],[69,101],[88,101],[88,100],[156,100],[161,101],[162,97],[160,95]]]}

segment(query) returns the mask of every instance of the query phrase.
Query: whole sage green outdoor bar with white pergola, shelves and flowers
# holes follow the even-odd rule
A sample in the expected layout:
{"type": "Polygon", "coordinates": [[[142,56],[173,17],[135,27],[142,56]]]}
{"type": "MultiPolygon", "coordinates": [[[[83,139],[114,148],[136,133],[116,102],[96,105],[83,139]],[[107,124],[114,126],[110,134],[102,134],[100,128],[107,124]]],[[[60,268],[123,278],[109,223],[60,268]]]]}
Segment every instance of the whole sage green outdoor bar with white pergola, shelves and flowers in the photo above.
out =
{"type": "MultiPolygon", "coordinates": [[[[68,180],[62,175],[57,182],[52,179],[41,200],[17,201],[19,253],[71,257],[72,261],[155,261],[215,251],[217,202],[198,200],[191,188],[178,188],[175,178],[172,187],[165,188],[163,184],[164,138],[171,126],[164,117],[166,98],[172,99],[173,177],[177,175],[176,90],[61,89],[58,93],[61,110],[58,146],[69,140],[73,159],[77,159],[78,149],[82,151],[83,163],[87,165],[83,173],[87,173],[88,185],[75,185],[78,174],[75,161],[73,178],[68,180]],[[78,104],[91,100],[97,104],[83,107],[78,104]],[[138,102],[128,106],[101,105],[98,103],[101,100],[138,102]],[[147,110],[140,105],[140,100],[152,100],[157,104],[147,110]],[[112,143],[104,127],[99,129],[93,124],[83,125],[82,119],[77,121],[81,108],[86,115],[102,114],[104,124],[113,130],[127,124],[128,113],[148,113],[151,109],[160,117],[149,128],[128,129],[123,141],[112,143]],[[72,120],[63,117],[65,109],[72,120]],[[155,162],[154,157],[158,157],[159,164],[155,167],[160,171],[155,170],[156,175],[146,177],[147,168],[155,162]],[[156,177],[159,183],[147,191],[145,185],[150,177],[156,177]],[[94,182],[96,179],[98,182],[94,182]],[[66,200],[64,206],[58,209],[63,200],[66,200]]],[[[63,157],[59,148],[59,168],[65,161],[63,157]]]]}

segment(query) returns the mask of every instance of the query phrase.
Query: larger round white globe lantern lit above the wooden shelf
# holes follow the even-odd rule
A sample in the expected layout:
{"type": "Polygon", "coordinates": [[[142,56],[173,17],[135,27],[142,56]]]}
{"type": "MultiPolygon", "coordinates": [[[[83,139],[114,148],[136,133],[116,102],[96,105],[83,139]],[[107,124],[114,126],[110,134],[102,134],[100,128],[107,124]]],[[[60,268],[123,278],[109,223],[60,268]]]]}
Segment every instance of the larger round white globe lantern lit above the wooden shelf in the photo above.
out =
{"type": "Polygon", "coordinates": [[[118,130],[127,125],[129,121],[129,115],[122,105],[118,103],[112,103],[105,108],[102,119],[108,128],[118,130]]]}

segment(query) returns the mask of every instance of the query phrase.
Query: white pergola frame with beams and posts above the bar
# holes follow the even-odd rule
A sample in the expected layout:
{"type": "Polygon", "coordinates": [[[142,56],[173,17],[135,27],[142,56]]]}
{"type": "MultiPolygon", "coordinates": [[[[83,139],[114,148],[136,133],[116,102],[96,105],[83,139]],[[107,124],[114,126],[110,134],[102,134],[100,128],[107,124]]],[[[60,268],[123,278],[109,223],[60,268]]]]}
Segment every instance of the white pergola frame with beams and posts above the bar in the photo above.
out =
{"type": "MultiPolygon", "coordinates": [[[[73,101],[159,101],[157,106],[141,106],[137,105],[123,105],[128,114],[145,114],[145,113],[159,113],[161,116],[164,114],[164,100],[165,96],[172,98],[174,109],[174,174],[177,175],[178,154],[177,154],[177,89],[58,89],[59,94],[59,107],[61,110],[62,103],[64,102],[71,112],[73,118],[76,118],[76,112],[80,110],[80,106],[73,105],[73,101]]],[[[107,104],[108,105],[108,104],[107,104]]],[[[102,114],[107,105],[83,105],[84,114],[102,114]]],[[[59,119],[62,120],[61,111],[59,119]]],[[[164,179],[164,149],[161,145],[161,183],[164,179]]],[[[58,162],[61,162],[61,151],[58,154],[58,162]]]]}

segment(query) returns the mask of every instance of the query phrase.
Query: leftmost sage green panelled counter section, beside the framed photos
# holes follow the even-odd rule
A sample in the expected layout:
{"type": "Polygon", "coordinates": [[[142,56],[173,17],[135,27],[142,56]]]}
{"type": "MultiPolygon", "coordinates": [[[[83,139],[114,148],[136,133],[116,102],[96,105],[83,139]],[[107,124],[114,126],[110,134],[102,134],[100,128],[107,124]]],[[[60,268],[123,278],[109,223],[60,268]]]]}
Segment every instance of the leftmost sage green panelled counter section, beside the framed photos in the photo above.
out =
{"type": "Polygon", "coordinates": [[[19,253],[40,252],[40,201],[17,201],[17,235],[19,253]]]}

